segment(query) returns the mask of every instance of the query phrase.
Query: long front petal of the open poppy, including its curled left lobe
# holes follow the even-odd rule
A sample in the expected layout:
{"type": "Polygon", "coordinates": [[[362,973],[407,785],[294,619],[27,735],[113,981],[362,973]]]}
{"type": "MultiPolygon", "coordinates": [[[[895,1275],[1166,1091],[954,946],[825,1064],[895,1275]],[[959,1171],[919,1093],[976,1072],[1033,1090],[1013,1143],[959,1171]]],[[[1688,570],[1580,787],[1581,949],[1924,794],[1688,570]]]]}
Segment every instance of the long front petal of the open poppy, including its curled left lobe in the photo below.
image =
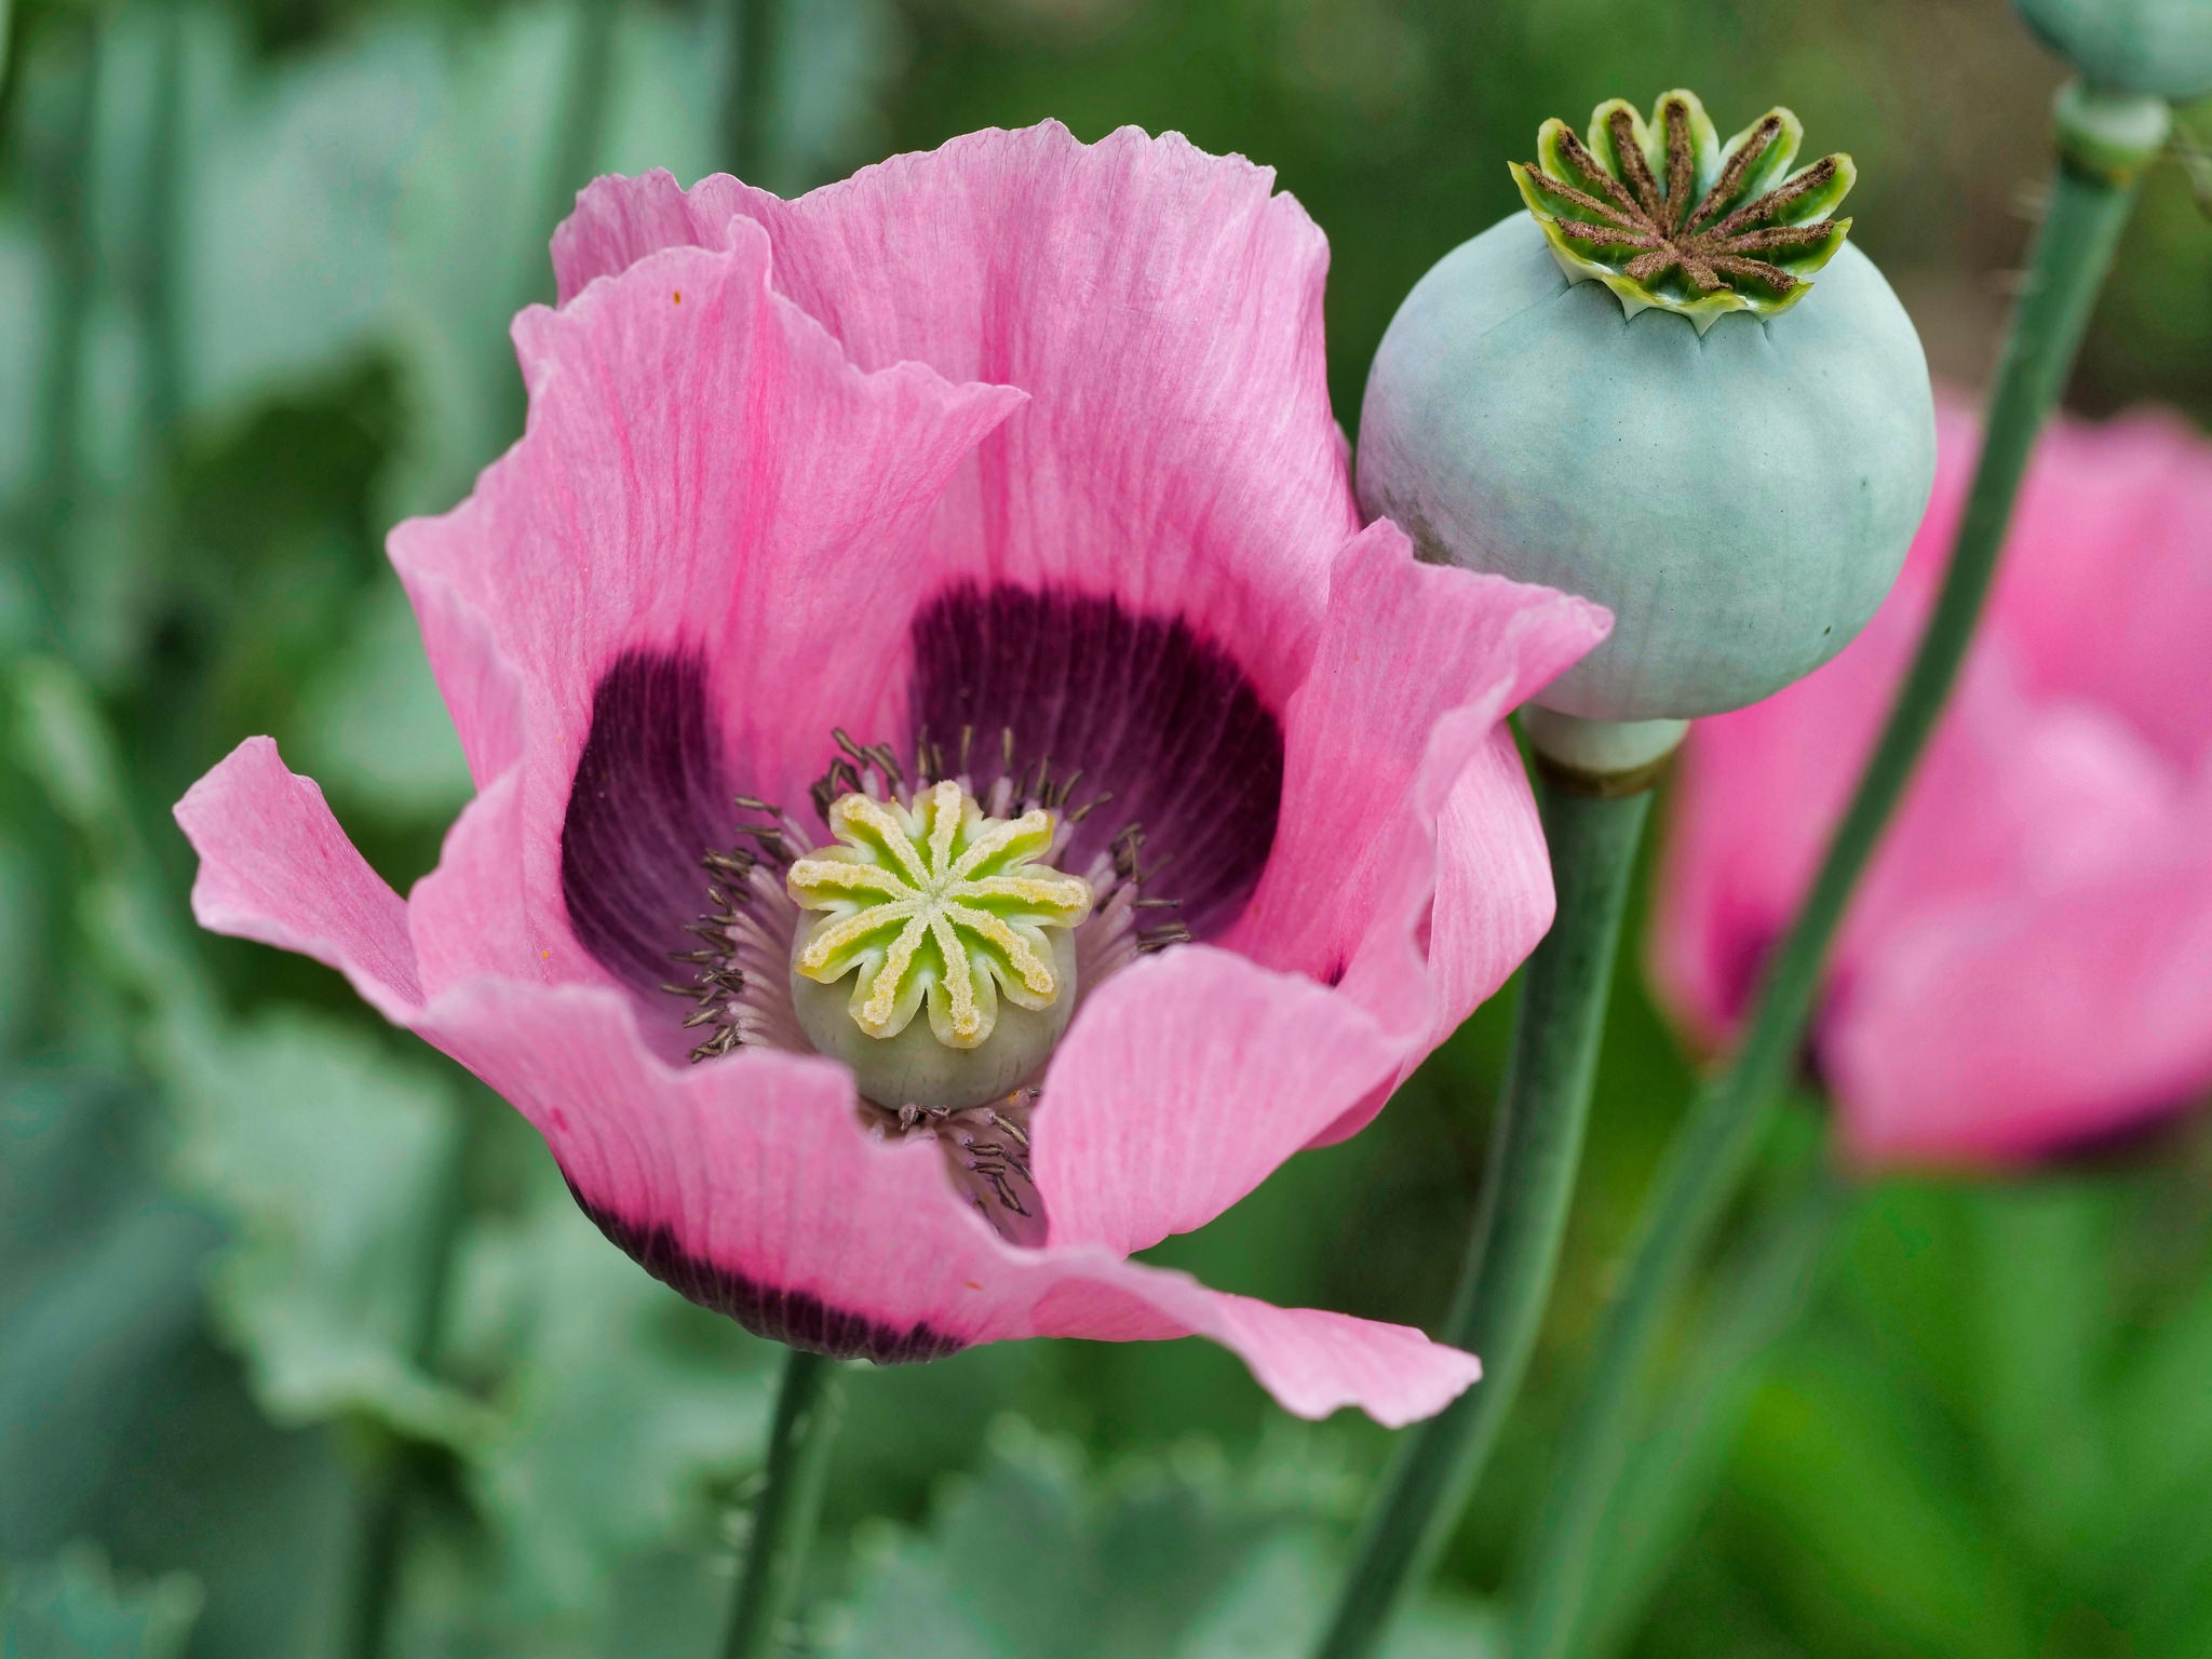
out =
{"type": "MultiPolygon", "coordinates": [[[[1018,1336],[1210,1336],[1287,1409],[1358,1405],[1387,1425],[1480,1376],[1469,1354],[1400,1325],[1228,1296],[1099,1245],[1009,1245],[953,1194],[933,1146],[863,1133],[852,1075],[827,1060],[748,1048],[668,1064],[611,987],[476,978],[416,1002],[398,896],[268,739],[243,743],[177,816],[204,860],[201,922],[343,969],[515,1104],[599,1225],[699,1301],[880,1358],[1018,1336]]],[[[1203,973],[1217,953],[1190,956],[1203,973]]]]}

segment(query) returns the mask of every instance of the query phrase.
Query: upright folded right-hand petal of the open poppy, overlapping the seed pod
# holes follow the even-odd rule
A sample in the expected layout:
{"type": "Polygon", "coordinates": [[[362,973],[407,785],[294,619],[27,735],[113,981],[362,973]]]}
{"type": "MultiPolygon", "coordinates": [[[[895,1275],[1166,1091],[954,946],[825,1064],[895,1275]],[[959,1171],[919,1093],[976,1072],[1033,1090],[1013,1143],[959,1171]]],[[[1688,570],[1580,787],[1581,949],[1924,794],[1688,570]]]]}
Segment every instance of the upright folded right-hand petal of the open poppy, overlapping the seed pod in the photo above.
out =
{"type": "Polygon", "coordinates": [[[1367,526],[1336,562],[1285,721],[1274,854],[1225,942],[1343,982],[1398,1033],[1400,1075],[1411,1071],[1551,925],[1551,872],[1504,717],[1608,626],[1586,599],[1418,564],[1396,524],[1367,526]]]}

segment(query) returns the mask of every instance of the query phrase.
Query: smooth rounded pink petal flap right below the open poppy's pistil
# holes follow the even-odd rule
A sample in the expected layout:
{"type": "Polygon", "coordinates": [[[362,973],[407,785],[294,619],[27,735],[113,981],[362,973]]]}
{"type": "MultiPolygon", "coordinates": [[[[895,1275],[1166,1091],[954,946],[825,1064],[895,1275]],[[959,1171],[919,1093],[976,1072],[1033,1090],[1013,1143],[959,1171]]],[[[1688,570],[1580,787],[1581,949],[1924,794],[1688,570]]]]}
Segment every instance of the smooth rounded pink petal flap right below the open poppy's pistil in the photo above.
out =
{"type": "Polygon", "coordinates": [[[1371,1091],[1402,1044],[1305,975],[1206,945],[1084,1006],[1033,1119],[1051,1241],[1130,1254],[1228,1210],[1371,1091]]]}

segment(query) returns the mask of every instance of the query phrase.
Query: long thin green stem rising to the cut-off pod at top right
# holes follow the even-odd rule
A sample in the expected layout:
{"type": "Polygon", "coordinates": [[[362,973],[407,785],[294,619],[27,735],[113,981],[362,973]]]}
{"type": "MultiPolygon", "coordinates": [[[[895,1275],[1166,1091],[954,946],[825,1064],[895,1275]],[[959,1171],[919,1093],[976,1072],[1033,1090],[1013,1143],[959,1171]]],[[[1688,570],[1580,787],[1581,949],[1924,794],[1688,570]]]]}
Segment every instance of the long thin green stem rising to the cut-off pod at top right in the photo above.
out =
{"type": "Polygon", "coordinates": [[[2163,144],[2159,128],[2126,166],[2115,164],[2121,159],[2115,157],[2115,133],[2124,137],[2128,124],[2099,117],[2124,102],[2128,100],[2084,95],[2079,86],[2059,95],[2066,159],[2055,170],[2051,208],[2013,307],[1991,396],[1989,434],[1951,549],[1951,568],[1812,894],[1761,978],[1743,1046],[1728,1071],[1699,1093],[1646,1203],[1628,1272],[1606,1310],[1588,1394],[1566,1438],[1559,1478],[1528,1557],[1515,1659],[1562,1659],[1571,1650],[1590,1595],[1595,1546],[1628,1449],[1630,1407],[1668,1307],[1736,1190],[1765,1126],[1765,1106],[1790,1077],[1845,902],[1966,655],[2028,449],[2073,369],[2090,307],[2128,221],[2135,177],[2163,144]],[[2088,139],[2084,122],[2090,126],[2088,139]]]}

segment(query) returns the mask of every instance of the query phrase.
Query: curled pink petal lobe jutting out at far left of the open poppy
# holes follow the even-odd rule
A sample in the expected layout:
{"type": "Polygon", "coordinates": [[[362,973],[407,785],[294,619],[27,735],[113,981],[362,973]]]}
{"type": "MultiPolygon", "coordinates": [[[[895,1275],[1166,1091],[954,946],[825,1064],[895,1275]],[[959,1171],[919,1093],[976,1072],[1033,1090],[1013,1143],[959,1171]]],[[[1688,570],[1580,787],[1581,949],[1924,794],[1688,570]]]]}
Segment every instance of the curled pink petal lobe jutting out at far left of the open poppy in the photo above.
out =
{"type": "Polygon", "coordinates": [[[177,803],[199,854],[192,916],[217,933],[338,969],[387,1020],[422,1002],[407,907],[354,852],[312,779],[268,737],[239,743],[177,803]]]}

